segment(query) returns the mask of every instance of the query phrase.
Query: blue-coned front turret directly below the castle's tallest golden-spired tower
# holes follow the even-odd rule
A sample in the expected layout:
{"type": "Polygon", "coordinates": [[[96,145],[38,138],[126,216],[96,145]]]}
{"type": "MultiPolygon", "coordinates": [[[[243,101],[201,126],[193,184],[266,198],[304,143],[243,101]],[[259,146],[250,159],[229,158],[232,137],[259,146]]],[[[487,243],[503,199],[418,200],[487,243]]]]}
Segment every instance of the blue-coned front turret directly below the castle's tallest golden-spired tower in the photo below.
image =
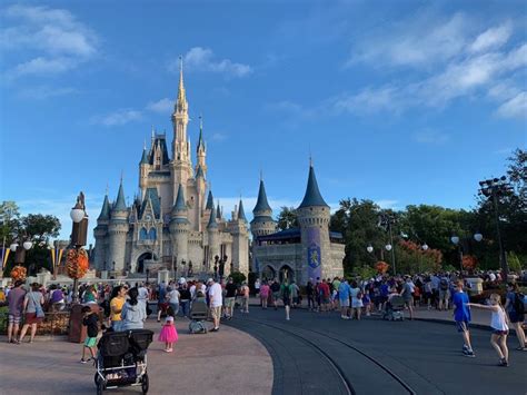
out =
{"type": "Polygon", "coordinates": [[[179,267],[181,260],[188,261],[189,224],[185,191],[180,184],[176,204],[170,214],[170,239],[172,243],[172,256],[177,259],[177,267],[179,267]]]}

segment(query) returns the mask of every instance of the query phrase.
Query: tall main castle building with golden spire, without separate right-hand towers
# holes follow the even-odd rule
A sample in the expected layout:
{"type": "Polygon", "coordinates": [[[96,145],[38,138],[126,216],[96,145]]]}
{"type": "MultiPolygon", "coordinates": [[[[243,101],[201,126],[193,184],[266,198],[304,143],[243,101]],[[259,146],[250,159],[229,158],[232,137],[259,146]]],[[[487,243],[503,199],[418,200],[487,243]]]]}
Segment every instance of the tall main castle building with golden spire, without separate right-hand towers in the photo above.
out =
{"type": "Polygon", "coordinates": [[[187,136],[189,121],[182,67],[178,97],[171,116],[172,158],[165,134],[152,131],[151,145],[143,147],[139,162],[140,195],[127,206],[121,185],[117,199],[105,197],[93,230],[93,261],[99,270],[145,273],[150,265],[175,270],[212,271],[228,275],[249,270],[249,234],[243,204],[231,219],[215,207],[207,186],[207,145],[200,122],[197,164],[192,166],[187,136]],[[208,191],[208,194],[207,194],[208,191]],[[219,268],[221,267],[221,269],[219,268]]]}

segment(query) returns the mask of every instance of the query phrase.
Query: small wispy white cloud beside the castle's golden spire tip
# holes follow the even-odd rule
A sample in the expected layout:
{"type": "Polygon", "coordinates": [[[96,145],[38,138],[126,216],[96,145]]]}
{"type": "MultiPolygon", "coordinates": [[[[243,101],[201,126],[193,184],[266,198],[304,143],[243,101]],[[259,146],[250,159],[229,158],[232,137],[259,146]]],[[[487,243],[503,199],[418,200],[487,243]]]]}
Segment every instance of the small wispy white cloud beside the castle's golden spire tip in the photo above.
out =
{"type": "MultiPolygon", "coordinates": [[[[193,47],[183,57],[185,68],[191,71],[217,72],[227,77],[247,77],[252,72],[249,65],[237,63],[230,59],[217,59],[209,48],[193,47]]],[[[179,60],[169,63],[170,71],[179,70],[179,60]]]]}

